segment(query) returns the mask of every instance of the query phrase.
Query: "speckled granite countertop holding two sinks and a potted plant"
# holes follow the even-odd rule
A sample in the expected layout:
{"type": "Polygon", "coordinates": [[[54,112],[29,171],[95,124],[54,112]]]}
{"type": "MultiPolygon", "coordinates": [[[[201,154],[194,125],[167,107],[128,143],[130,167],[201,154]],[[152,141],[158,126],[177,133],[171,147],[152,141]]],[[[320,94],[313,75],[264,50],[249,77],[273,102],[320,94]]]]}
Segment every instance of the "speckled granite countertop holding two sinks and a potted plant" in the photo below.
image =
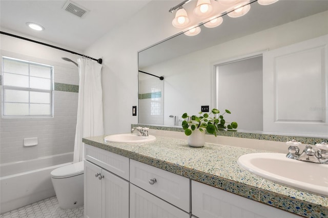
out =
{"type": "Polygon", "coordinates": [[[140,144],[107,143],[104,137],[83,142],[305,217],[328,217],[328,198],[268,181],[237,163],[241,155],[268,151],[212,143],[190,147],[187,140],[160,136],[140,144]]]}

